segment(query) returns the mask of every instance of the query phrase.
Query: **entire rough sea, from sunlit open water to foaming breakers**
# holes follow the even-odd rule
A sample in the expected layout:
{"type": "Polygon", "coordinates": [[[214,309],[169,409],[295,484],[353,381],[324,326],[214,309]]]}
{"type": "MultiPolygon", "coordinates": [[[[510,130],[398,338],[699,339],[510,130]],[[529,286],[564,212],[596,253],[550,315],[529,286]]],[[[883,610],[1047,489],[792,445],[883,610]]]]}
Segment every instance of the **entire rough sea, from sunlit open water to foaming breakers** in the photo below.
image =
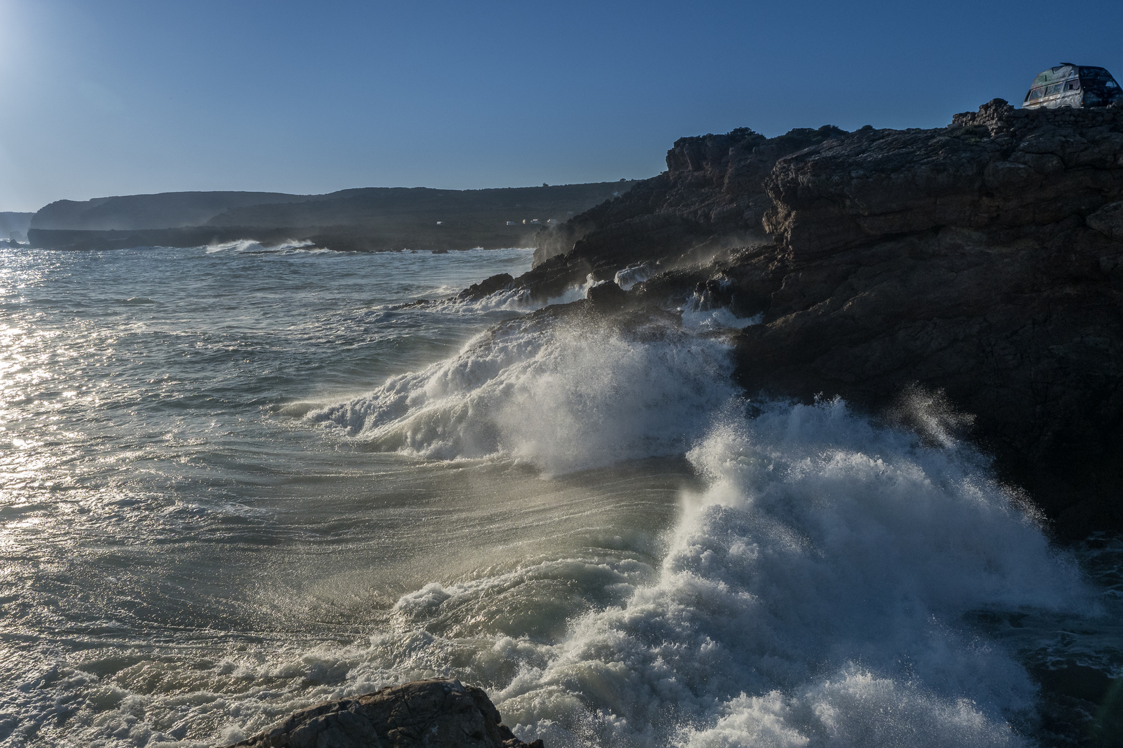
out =
{"type": "Polygon", "coordinates": [[[1031,673],[1123,674],[1117,541],[1050,547],[967,445],[745,401],[752,320],[451,301],[518,249],[0,251],[2,746],[432,675],[549,748],[1017,746],[1031,673]]]}

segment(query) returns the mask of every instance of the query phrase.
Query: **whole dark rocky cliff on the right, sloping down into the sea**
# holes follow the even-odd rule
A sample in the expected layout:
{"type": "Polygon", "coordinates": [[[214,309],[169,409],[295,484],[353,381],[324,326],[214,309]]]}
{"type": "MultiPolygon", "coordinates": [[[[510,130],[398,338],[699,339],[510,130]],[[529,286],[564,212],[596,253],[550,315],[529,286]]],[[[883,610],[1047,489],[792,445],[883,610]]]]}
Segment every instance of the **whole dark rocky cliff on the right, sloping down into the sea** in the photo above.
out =
{"type": "Polygon", "coordinates": [[[510,286],[646,264],[631,305],[761,315],[736,341],[750,394],[958,432],[1058,533],[1123,529],[1123,109],[792,136],[679,140],[510,286]]]}

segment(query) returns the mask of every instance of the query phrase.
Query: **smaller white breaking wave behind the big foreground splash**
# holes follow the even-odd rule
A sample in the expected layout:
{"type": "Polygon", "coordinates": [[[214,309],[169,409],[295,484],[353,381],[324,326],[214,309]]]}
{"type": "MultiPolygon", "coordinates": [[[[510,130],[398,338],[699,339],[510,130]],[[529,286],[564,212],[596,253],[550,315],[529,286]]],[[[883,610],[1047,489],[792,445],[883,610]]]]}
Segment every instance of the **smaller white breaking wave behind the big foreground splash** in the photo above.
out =
{"type": "Polygon", "coordinates": [[[455,358],[309,414],[383,450],[506,455],[549,473],[685,452],[734,396],[727,345],[518,321],[455,358]]]}

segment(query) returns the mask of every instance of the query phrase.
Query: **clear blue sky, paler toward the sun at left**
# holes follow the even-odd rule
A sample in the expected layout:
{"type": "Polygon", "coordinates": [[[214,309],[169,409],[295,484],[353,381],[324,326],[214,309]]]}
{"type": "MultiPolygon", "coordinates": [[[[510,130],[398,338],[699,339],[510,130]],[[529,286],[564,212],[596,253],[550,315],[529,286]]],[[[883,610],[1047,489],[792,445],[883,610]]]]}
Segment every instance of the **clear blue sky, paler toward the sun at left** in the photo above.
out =
{"type": "Polygon", "coordinates": [[[937,127],[1123,76],[1123,2],[0,0],[0,210],[648,177],[684,135],[937,127]]]}

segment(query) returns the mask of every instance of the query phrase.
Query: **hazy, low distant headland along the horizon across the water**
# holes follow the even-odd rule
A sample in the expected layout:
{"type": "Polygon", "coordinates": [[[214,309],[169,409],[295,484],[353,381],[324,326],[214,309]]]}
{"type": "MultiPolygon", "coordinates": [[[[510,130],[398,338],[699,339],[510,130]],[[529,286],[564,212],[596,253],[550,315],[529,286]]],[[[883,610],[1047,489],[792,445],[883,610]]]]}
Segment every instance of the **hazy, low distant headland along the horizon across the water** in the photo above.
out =
{"type": "Polygon", "coordinates": [[[193,247],[252,239],[345,251],[528,246],[540,227],[628,191],[632,182],[504,190],[367,187],[327,195],[165,193],[47,205],[28,238],[52,249],[193,247]]]}

